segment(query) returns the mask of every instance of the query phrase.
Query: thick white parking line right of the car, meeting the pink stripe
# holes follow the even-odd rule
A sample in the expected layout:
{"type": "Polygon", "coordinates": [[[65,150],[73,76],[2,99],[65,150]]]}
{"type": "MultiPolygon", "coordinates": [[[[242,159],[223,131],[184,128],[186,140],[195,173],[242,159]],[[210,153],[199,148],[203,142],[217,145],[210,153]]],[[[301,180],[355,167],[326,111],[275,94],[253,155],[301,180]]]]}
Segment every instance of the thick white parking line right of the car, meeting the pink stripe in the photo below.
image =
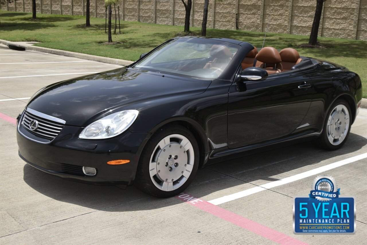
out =
{"type": "Polygon", "coordinates": [[[364,158],[367,158],[367,153],[357,155],[357,156],[353,156],[351,158],[347,158],[347,159],[344,159],[344,160],[339,161],[339,162],[330,163],[330,164],[322,166],[322,167],[317,167],[316,169],[311,169],[311,170],[303,172],[303,173],[295,174],[293,176],[290,176],[290,177],[287,177],[287,178],[284,178],[284,179],[281,179],[281,180],[272,181],[272,182],[254,187],[254,188],[250,188],[248,190],[244,190],[244,191],[240,191],[240,192],[237,192],[237,193],[230,194],[228,196],[213,199],[213,200],[208,201],[208,202],[210,202],[211,204],[214,204],[214,205],[219,205],[219,204],[222,204],[222,203],[225,203],[225,202],[229,202],[229,201],[239,199],[241,197],[246,197],[248,195],[251,195],[251,194],[254,194],[254,193],[257,193],[257,192],[260,192],[260,191],[265,191],[265,190],[268,190],[270,188],[277,187],[279,185],[284,185],[284,184],[288,184],[288,183],[291,183],[291,182],[294,182],[294,181],[297,181],[297,180],[301,180],[301,179],[313,176],[315,174],[319,174],[319,173],[325,172],[327,170],[334,169],[336,167],[346,165],[348,163],[359,161],[359,160],[364,159],[364,158]]]}

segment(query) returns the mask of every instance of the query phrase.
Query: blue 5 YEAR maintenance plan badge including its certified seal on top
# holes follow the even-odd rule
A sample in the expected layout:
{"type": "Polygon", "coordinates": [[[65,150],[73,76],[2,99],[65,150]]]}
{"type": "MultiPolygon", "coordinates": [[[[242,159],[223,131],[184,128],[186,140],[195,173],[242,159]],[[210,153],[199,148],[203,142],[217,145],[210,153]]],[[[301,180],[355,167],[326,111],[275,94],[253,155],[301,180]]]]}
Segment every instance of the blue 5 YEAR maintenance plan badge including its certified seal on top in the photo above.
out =
{"type": "Polygon", "coordinates": [[[317,176],[308,197],[294,198],[295,234],[354,234],[354,197],[341,197],[333,177],[317,176]]]}

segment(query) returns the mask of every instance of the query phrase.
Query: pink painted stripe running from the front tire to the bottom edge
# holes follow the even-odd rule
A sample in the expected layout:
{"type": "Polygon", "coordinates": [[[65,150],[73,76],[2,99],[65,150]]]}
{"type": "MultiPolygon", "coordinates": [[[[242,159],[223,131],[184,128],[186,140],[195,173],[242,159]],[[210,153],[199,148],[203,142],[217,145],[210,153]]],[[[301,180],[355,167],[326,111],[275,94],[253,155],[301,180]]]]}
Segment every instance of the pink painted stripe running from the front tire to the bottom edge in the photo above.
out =
{"type": "MultiPolygon", "coordinates": [[[[192,206],[196,206],[197,208],[204,210],[207,213],[210,213],[214,216],[217,216],[221,219],[224,219],[236,226],[242,227],[246,230],[252,231],[262,237],[265,237],[271,241],[277,242],[279,244],[284,245],[292,245],[292,244],[299,244],[299,245],[308,245],[305,242],[302,242],[298,239],[290,237],[286,234],[280,233],[279,231],[273,230],[272,228],[263,226],[262,224],[256,223],[250,219],[232,213],[226,209],[221,207],[215,206],[209,202],[203,201],[199,198],[193,197],[192,195],[181,193],[176,196],[176,198],[180,199],[181,201],[185,201],[192,206]]],[[[291,225],[290,225],[291,227],[291,225]]]]}

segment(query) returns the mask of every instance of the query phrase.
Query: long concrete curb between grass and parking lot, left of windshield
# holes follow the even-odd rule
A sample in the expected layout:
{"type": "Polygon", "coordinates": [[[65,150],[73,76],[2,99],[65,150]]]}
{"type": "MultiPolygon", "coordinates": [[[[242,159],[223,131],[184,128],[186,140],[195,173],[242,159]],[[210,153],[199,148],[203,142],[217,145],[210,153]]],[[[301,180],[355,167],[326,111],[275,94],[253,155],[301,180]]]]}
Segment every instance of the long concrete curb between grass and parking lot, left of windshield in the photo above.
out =
{"type": "Polygon", "coordinates": [[[83,60],[98,61],[98,62],[103,62],[107,64],[113,64],[113,65],[126,66],[126,65],[130,65],[133,63],[133,61],[128,61],[128,60],[119,60],[119,59],[114,59],[114,58],[101,57],[97,55],[81,54],[81,53],[75,53],[75,52],[52,49],[52,48],[37,47],[37,46],[33,46],[32,45],[33,43],[27,43],[27,42],[10,42],[7,40],[0,39],[0,44],[4,44],[8,47],[9,45],[11,45],[15,47],[25,48],[25,50],[32,50],[32,51],[39,51],[43,53],[63,55],[63,56],[74,57],[74,58],[79,58],[83,60]]]}

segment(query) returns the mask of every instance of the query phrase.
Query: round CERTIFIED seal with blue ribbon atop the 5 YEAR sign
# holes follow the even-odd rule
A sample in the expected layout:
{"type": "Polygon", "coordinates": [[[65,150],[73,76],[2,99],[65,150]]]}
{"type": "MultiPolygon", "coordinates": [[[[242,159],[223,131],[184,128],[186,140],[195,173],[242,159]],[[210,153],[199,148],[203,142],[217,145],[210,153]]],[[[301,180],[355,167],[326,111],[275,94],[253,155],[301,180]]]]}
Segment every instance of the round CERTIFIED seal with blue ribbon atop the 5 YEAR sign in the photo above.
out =
{"type": "Polygon", "coordinates": [[[313,181],[311,190],[309,197],[316,198],[319,201],[330,201],[333,198],[338,198],[340,194],[340,189],[337,190],[337,183],[334,178],[327,175],[317,176],[313,181]]]}

